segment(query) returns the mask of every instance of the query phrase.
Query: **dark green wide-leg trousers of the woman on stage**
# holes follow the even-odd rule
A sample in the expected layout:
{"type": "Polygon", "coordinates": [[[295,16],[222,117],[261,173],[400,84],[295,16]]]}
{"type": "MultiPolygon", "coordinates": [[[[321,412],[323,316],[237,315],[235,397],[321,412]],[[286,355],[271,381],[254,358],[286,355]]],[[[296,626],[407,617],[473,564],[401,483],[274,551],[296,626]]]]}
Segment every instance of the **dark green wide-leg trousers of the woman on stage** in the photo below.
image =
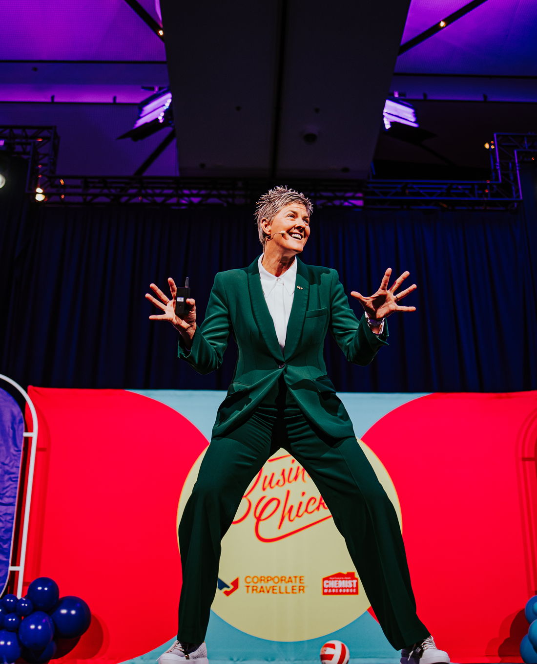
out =
{"type": "Polygon", "coordinates": [[[304,416],[280,380],[246,422],[213,438],[179,525],[183,588],[179,641],[201,643],[216,594],[220,540],[242,496],[279,448],[309,473],[388,641],[401,649],[429,631],[416,615],[396,511],[356,438],[330,438],[304,416]]]}

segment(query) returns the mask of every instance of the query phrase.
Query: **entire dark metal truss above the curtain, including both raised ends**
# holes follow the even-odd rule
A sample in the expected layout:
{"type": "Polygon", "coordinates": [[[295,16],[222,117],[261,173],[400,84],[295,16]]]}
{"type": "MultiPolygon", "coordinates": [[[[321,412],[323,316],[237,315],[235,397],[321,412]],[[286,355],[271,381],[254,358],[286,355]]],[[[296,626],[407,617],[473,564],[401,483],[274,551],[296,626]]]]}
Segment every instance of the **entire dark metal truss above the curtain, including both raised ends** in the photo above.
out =
{"type": "MultiPolygon", "coordinates": [[[[0,147],[30,160],[27,192],[40,187],[52,205],[254,205],[276,183],[262,178],[101,177],[56,175],[56,127],[0,125],[0,147]]],[[[534,134],[495,134],[491,181],[285,180],[316,207],[515,209],[522,199],[518,167],[537,159],[534,134]]]]}

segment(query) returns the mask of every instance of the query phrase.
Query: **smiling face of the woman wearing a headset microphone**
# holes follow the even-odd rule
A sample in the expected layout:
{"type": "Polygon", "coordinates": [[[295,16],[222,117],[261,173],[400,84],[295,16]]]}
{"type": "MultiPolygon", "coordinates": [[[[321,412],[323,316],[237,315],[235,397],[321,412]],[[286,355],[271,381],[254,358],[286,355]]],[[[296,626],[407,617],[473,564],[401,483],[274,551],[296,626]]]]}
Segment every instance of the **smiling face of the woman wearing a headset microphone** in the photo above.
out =
{"type": "Polygon", "coordinates": [[[261,226],[271,240],[265,244],[265,252],[281,256],[301,254],[309,236],[309,216],[300,203],[281,208],[272,221],[263,219],[261,226]]]}

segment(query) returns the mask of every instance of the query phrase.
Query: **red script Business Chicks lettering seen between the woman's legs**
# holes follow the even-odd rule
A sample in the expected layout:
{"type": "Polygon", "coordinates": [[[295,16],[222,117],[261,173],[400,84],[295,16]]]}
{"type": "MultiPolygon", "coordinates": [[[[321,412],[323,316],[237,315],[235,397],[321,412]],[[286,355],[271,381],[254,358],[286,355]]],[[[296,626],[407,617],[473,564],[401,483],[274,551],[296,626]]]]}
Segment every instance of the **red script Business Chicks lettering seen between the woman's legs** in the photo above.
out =
{"type": "Polygon", "coordinates": [[[260,542],[277,542],[331,518],[305,469],[284,454],[271,457],[259,471],[242,497],[233,523],[248,519],[260,542]]]}

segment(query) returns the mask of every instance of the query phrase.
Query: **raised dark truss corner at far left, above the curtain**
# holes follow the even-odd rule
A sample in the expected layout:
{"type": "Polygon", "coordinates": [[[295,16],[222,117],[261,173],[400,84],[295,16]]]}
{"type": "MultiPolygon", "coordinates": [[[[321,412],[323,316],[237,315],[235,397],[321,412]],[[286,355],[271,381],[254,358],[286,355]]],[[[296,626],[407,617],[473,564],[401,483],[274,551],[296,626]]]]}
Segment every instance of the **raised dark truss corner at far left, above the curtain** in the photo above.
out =
{"type": "Polygon", "coordinates": [[[0,147],[30,160],[26,191],[35,192],[41,178],[56,173],[60,149],[56,127],[0,125],[0,147]]]}

